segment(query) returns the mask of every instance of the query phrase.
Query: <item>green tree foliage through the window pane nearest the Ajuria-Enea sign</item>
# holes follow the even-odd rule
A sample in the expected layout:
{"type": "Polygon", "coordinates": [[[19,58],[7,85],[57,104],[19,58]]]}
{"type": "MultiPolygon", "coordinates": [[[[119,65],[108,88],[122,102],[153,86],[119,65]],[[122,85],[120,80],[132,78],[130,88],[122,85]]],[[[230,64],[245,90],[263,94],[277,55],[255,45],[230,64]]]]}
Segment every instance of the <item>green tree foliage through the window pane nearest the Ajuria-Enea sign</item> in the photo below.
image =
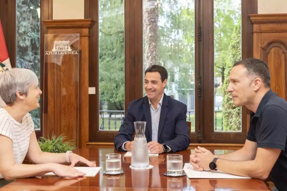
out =
{"type": "Polygon", "coordinates": [[[125,43],[123,0],[99,1],[99,95],[110,110],[124,110],[125,43]]]}

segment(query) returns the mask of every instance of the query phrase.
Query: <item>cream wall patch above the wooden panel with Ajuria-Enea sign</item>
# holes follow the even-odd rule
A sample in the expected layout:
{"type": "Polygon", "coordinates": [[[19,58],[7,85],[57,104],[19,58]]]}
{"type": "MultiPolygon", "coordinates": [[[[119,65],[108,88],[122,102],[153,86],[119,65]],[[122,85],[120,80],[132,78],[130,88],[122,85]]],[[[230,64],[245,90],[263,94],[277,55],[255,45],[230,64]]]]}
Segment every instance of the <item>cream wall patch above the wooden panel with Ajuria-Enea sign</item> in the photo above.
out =
{"type": "Polygon", "coordinates": [[[53,19],[84,19],[84,0],[53,0],[53,19]]]}

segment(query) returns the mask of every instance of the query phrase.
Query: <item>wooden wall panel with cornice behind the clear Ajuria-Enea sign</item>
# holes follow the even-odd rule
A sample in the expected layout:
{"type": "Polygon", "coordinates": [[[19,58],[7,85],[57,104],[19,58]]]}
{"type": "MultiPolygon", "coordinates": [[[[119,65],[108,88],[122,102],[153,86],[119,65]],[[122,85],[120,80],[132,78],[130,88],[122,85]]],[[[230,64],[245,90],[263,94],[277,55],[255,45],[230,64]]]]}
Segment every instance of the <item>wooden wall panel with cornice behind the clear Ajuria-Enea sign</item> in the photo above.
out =
{"type": "Polygon", "coordinates": [[[59,63],[47,58],[48,122],[44,124],[44,137],[64,134],[68,140],[75,141],[78,148],[86,148],[89,139],[88,41],[91,23],[91,19],[44,21],[48,34],[79,34],[79,42],[71,42],[72,50],[79,48],[79,65],[73,55],[64,55],[59,63]]]}

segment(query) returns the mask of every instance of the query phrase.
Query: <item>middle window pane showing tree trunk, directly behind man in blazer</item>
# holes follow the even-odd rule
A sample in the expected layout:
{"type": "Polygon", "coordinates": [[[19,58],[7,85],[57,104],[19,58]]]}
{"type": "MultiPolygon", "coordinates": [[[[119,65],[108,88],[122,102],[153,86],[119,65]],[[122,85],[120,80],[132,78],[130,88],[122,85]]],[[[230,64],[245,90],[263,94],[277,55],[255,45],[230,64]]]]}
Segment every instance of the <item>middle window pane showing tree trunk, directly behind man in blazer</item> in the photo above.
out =
{"type": "MultiPolygon", "coordinates": [[[[168,72],[164,92],[187,105],[187,121],[194,121],[194,1],[143,0],[143,71],[153,64],[168,72]],[[189,99],[191,98],[191,99],[189,99]]],[[[145,95],[145,94],[144,94],[145,95]]]]}

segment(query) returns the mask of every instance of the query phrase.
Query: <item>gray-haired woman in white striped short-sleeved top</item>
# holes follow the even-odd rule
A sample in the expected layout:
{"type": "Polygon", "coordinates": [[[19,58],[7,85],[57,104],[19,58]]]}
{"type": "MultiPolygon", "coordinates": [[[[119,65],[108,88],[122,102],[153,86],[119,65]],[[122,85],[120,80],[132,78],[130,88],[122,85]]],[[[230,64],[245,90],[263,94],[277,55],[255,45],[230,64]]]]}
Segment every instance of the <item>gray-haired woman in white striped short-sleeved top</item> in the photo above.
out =
{"type": "Polygon", "coordinates": [[[0,74],[0,96],[6,106],[0,108],[0,178],[15,180],[53,172],[62,177],[84,176],[73,168],[80,162],[96,166],[74,153],[42,152],[29,111],[39,107],[42,91],[34,72],[13,68],[0,74]],[[22,164],[25,156],[34,164],[22,164]],[[63,165],[71,162],[70,166],[63,165]]]}

